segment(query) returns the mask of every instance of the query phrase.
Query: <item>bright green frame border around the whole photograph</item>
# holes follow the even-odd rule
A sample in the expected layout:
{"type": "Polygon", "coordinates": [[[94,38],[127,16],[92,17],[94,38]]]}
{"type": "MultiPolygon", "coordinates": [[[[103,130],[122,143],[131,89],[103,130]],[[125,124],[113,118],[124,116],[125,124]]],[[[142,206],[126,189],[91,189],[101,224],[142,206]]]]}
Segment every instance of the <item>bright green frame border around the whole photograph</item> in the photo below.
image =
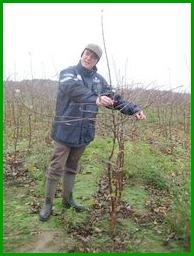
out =
{"type": "MultiPolygon", "coordinates": [[[[1,36],[2,36],[2,46],[1,46],[1,67],[3,67],[3,4],[4,3],[191,3],[191,24],[192,24],[192,21],[193,21],[193,6],[192,6],[192,0],[190,1],[181,1],[181,0],[177,0],[177,1],[169,1],[169,0],[163,0],[163,1],[130,1],[130,0],[104,0],[104,1],[99,1],[99,0],[95,0],[94,2],[91,2],[91,1],[75,1],[75,0],[72,0],[72,1],[64,1],[64,0],[61,0],[61,1],[37,1],[37,0],[31,0],[31,1],[1,1],[0,2],[0,13],[1,13],[1,36]]],[[[192,26],[191,26],[192,28],[192,26]]],[[[191,29],[192,31],[192,29],[191,29]]],[[[191,33],[191,36],[192,36],[192,33],[191,33]]],[[[192,37],[191,37],[191,45],[192,45],[192,37]]],[[[192,64],[192,49],[191,49],[191,64],[192,64]]],[[[192,67],[192,65],[191,65],[192,67]]],[[[191,69],[192,70],[192,69],[191,69]]],[[[0,89],[0,96],[1,96],[1,108],[0,108],[0,117],[1,117],[1,126],[0,126],[0,132],[1,132],[1,136],[0,136],[0,143],[1,143],[1,148],[2,148],[2,154],[1,154],[1,162],[2,162],[2,171],[0,172],[0,198],[1,198],[1,203],[0,203],[0,219],[1,219],[1,222],[0,222],[0,254],[2,255],[34,255],[34,254],[46,254],[46,255],[59,255],[59,254],[68,254],[68,255],[72,255],[72,253],[6,253],[6,252],[3,252],[3,69],[1,69],[1,81],[2,81],[2,86],[1,86],[1,89],[0,89]]],[[[192,85],[192,80],[191,80],[191,85],[192,85]]],[[[191,86],[191,113],[192,113],[192,86],[191,86]]],[[[191,115],[192,116],[192,115],[191,115]]],[[[191,119],[191,128],[193,126],[193,122],[194,120],[191,119]]],[[[192,142],[192,133],[191,133],[191,142],[192,142]]],[[[191,150],[191,159],[192,159],[192,150],[191,150]]],[[[191,160],[191,169],[192,169],[192,160],[191,160]]],[[[192,172],[191,172],[191,181],[193,180],[194,176],[192,175],[192,172]]],[[[192,183],[192,182],[191,182],[192,183]]],[[[192,195],[192,193],[191,193],[192,195]]],[[[193,201],[193,196],[192,196],[192,201],[193,201]]],[[[193,205],[193,204],[192,204],[193,205]]],[[[193,254],[193,235],[192,235],[192,231],[194,231],[194,224],[192,222],[192,226],[191,226],[191,252],[188,252],[188,253],[165,253],[165,255],[168,255],[168,254],[173,254],[173,255],[192,255],[193,254]]],[[[85,255],[85,253],[73,253],[75,255],[85,255]]],[[[93,253],[87,253],[89,255],[93,255],[93,253]]],[[[105,254],[110,254],[110,255],[115,255],[116,253],[98,253],[98,255],[105,255],[105,254]]],[[[120,255],[126,255],[126,254],[131,254],[131,253],[119,253],[120,255]]],[[[132,253],[133,255],[141,255],[142,253],[132,253]]],[[[144,253],[145,254],[145,253],[144,253]]],[[[146,253],[148,255],[163,255],[164,253],[146,253]]]]}

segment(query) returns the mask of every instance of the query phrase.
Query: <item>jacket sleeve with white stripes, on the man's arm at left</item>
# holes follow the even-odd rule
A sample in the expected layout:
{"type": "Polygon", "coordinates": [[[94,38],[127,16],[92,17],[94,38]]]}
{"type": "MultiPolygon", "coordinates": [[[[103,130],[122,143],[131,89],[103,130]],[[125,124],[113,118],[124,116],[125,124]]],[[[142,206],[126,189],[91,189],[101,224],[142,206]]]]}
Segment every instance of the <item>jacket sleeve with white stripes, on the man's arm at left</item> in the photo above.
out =
{"type": "Polygon", "coordinates": [[[96,103],[98,97],[95,92],[84,86],[81,76],[76,75],[71,69],[61,71],[59,90],[77,103],[96,103]]]}

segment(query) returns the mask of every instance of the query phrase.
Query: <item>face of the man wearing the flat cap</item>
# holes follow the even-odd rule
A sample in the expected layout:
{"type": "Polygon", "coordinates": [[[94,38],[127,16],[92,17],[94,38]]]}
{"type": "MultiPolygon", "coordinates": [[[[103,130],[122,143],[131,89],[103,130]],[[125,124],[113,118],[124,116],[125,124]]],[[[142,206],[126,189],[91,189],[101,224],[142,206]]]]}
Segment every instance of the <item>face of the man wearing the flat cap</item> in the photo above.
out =
{"type": "Polygon", "coordinates": [[[86,49],[83,55],[81,56],[82,66],[89,70],[91,70],[96,65],[97,62],[98,62],[98,56],[94,52],[88,49],[86,49]]]}

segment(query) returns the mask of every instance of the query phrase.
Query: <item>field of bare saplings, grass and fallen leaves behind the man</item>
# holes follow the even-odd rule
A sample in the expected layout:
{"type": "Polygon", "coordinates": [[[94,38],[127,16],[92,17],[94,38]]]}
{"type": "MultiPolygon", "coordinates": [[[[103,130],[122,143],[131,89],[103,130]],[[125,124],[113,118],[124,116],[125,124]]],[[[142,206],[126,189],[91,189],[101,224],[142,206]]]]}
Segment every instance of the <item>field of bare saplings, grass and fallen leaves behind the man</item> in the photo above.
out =
{"type": "Polygon", "coordinates": [[[100,109],[81,159],[75,198],[42,223],[57,84],[4,84],[4,252],[190,252],[190,97],[125,89],[141,122],[100,109]]]}

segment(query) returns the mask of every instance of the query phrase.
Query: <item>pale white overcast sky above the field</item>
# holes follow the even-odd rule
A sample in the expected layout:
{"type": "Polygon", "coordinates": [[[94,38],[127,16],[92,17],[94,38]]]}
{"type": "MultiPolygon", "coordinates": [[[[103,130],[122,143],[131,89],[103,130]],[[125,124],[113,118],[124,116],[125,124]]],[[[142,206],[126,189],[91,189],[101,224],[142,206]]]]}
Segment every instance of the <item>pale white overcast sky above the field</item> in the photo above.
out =
{"type": "MultiPolygon", "coordinates": [[[[90,42],[103,48],[114,83],[190,91],[191,4],[4,4],[4,79],[58,80],[90,42]]],[[[108,80],[105,55],[97,65],[108,80]]]]}

